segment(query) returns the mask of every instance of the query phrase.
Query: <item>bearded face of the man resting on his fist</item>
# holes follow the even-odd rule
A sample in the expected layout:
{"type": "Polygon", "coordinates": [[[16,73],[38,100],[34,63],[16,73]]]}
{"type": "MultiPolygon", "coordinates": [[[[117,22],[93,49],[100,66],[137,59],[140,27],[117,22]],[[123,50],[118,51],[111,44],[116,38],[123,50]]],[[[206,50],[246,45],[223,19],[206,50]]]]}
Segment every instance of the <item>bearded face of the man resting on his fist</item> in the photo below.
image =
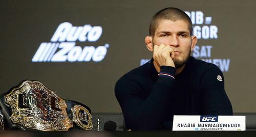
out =
{"type": "Polygon", "coordinates": [[[192,40],[186,21],[172,21],[167,19],[158,20],[158,25],[153,37],[153,46],[160,44],[165,44],[173,48],[175,53],[173,60],[176,68],[186,63],[191,50],[195,46],[191,46],[192,40]]]}

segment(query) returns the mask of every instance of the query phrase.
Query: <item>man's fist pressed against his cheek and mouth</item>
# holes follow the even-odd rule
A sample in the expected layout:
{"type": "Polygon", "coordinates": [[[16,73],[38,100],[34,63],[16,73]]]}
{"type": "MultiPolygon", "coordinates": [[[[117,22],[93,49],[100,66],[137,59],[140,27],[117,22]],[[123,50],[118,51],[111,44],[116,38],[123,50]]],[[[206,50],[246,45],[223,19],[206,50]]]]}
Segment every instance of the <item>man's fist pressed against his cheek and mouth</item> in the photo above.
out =
{"type": "Polygon", "coordinates": [[[174,65],[174,51],[170,46],[166,46],[165,44],[154,45],[153,50],[153,58],[156,61],[157,65],[160,66],[171,66],[174,65]]]}

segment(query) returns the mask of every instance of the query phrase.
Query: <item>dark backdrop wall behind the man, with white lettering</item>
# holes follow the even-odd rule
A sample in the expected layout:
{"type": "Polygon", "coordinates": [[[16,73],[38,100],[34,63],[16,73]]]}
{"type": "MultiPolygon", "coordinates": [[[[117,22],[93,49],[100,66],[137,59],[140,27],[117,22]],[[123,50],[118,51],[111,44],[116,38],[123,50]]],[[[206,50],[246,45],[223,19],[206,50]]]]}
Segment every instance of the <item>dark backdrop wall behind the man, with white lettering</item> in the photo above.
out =
{"type": "Polygon", "coordinates": [[[212,62],[223,70],[225,89],[233,111],[256,112],[255,1],[0,3],[0,93],[7,92],[24,79],[39,80],[60,97],[90,106],[93,113],[121,112],[114,95],[115,82],[127,71],[151,59],[152,53],[145,48],[144,37],[148,35],[148,25],[153,14],[166,7],[177,7],[195,19],[197,32],[194,34],[198,37],[201,35],[192,55],[212,62]],[[56,46],[56,43],[63,42],[51,41],[63,22],[69,22],[72,26],[90,25],[91,36],[88,36],[88,31],[86,41],[65,40],[74,42],[73,46],[76,47],[71,44],[67,50],[70,54],[67,52],[56,57],[63,61],[51,62],[51,54],[55,56],[60,48],[55,52],[54,47],[47,50],[47,44],[44,43],[54,43],[56,46]],[[94,26],[100,26],[98,28],[102,29],[102,34],[93,41],[93,37],[100,33],[92,30],[94,26]],[[32,62],[41,44],[45,45],[42,46],[45,50],[38,53],[38,59],[32,62]],[[76,57],[84,47],[90,48],[90,51],[84,51],[87,60],[77,61],[76,57]],[[101,49],[97,50],[98,47],[101,49]],[[102,60],[97,61],[99,58],[102,60]],[[40,59],[42,62],[38,62],[40,59]]]}

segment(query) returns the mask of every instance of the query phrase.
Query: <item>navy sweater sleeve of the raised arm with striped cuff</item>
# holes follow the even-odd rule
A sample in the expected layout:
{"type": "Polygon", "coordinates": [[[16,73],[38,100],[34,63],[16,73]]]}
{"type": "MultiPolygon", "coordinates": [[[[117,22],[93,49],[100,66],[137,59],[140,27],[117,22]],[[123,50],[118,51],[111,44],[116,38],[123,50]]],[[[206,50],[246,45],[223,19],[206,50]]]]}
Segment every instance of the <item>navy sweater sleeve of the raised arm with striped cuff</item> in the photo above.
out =
{"type": "MultiPolygon", "coordinates": [[[[161,66],[161,72],[175,73],[174,67],[161,66]]],[[[115,95],[121,106],[126,127],[131,130],[160,130],[169,105],[174,78],[160,76],[150,95],[143,98],[140,77],[125,76],[115,86],[115,95]],[[137,80],[136,80],[137,79],[137,80]]]]}

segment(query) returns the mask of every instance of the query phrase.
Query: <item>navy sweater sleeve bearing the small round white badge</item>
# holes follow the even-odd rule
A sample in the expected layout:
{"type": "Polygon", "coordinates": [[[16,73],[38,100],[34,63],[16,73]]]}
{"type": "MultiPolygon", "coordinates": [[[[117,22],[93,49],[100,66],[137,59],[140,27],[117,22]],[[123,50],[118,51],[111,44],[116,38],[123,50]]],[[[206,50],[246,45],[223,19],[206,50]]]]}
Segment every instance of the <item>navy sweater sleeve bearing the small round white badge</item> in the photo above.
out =
{"type": "Polygon", "coordinates": [[[232,106],[224,89],[224,76],[214,65],[201,78],[204,115],[233,115],[232,106]]]}

